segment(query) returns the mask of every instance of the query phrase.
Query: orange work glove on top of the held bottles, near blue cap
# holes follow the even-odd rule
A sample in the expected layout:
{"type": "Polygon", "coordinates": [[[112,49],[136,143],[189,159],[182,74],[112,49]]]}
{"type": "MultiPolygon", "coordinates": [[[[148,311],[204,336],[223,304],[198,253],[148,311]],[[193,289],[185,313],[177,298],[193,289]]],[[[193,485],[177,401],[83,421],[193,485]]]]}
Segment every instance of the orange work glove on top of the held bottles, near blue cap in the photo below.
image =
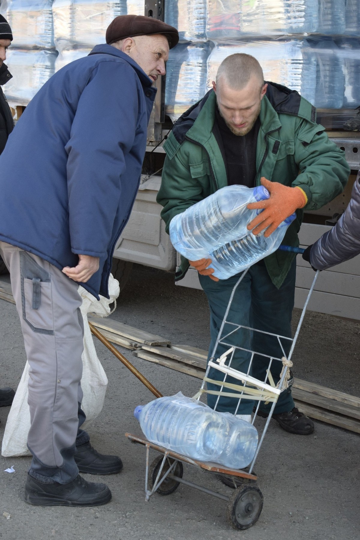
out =
{"type": "Polygon", "coordinates": [[[293,214],[297,208],[305,206],[308,198],[301,187],[284,186],[279,182],[270,182],[264,177],[261,178],[261,184],[269,191],[270,198],[248,204],[249,210],[261,208],[264,210],[247,225],[247,228],[249,231],[254,229],[254,234],[267,229],[264,237],[269,237],[284,219],[293,214]]]}

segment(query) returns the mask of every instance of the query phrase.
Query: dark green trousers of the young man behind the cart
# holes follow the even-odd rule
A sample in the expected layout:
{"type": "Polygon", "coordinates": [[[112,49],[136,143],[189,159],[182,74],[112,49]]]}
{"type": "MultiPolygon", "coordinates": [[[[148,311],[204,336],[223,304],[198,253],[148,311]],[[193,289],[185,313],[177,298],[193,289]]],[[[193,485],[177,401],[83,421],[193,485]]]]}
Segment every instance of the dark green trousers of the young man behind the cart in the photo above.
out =
{"type": "MultiPolygon", "coordinates": [[[[236,274],[229,279],[213,281],[208,276],[199,274],[200,284],[203,291],[206,293],[210,307],[211,341],[208,359],[213,354],[216,338],[218,338],[230,295],[234,285],[240,278],[240,275],[241,273],[236,274]]],[[[228,345],[218,345],[215,353],[215,360],[232,345],[243,347],[244,349],[248,349],[248,351],[254,351],[258,354],[254,355],[252,369],[250,370],[249,375],[252,375],[261,381],[265,380],[266,370],[269,366],[269,358],[261,356],[261,354],[274,356],[276,358],[281,358],[284,353],[285,356],[287,356],[291,347],[291,341],[280,339],[283,348],[282,350],[277,338],[268,334],[254,332],[251,329],[256,328],[258,330],[263,330],[264,332],[291,338],[291,315],[294,308],[295,276],[296,261],[294,260],[283,285],[280,289],[277,289],[273,285],[273,282],[271,282],[263,261],[260,261],[249,268],[247,274],[236,289],[232,306],[227,316],[227,321],[249,327],[249,329],[236,330],[236,332],[228,335],[224,340],[228,345]]],[[[234,330],[234,326],[226,324],[222,330],[221,339],[232,332],[232,330],[234,330]]],[[[247,373],[250,358],[251,352],[236,349],[231,366],[243,373],[247,373]]],[[[280,379],[281,369],[282,363],[273,360],[270,372],[271,375],[273,375],[275,383],[280,379]]],[[[214,368],[210,368],[209,370],[209,379],[222,381],[224,376],[225,375],[219,372],[219,370],[214,368]]],[[[228,382],[241,384],[240,381],[236,381],[232,377],[227,377],[226,380],[228,382]]],[[[207,388],[209,390],[220,390],[219,385],[212,383],[208,383],[207,388]]],[[[226,391],[225,388],[223,390],[226,391]]],[[[227,391],[233,392],[233,390],[227,391]]],[[[216,395],[207,394],[208,405],[214,408],[217,398],[218,396],[216,395]]],[[[228,411],[229,413],[234,414],[238,402],[239,400],[233,397],[221,397],[216,406],[216,410],[221,412],[228,411]]],[[[269,403],[265,406],[262,401],[260,403],[260,409],[268,412],[271,404],[272,403],[269,403]]],[[[250,414],[253,407],[254,401],[243,399],[240,402],[236,414],[250,414]]],[[[291,396],[291,388],[288,388],[280,394],[274,409],[274,414],[290,411],[293,407],[294,400],[291,396]]]]}

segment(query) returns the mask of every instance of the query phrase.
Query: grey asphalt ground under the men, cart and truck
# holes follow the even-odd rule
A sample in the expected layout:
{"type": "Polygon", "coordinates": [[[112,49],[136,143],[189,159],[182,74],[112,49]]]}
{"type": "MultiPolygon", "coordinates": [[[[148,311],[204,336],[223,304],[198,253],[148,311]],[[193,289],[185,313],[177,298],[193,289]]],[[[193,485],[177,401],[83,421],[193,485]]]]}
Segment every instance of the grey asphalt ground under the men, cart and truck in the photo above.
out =
{"type": "MultiPolygon", "coordinates": [[[[300,315],[294,310],[294,329],[300,315]]],[[[201,291],[174,285],[173,275],[134,265],[112,318],[169,339],[206,349],[209,313],[201,291]]],[[[359,396],[360,325],[318,313],[305,315],[293,361],[295,376],[359,396]]],[[[15,305],[0,300],[0,387],[17,387],[26,357],[15,305]]],[[[141,435],[133,410],[152,394],[100,343],[108,377],[104,408],[87,428],[102,453],[121,456],[118,475],[105,482],[112,501],[96,508],[39,508],[23,502],[30,457],[0,458],[0,538],[4,540],[358,540],[359,435],[315,421],[309,436],[290,435],[270,422],[257,458],[264,497],[259,521],[246,531],[226,521],[226,502],[180,485],[169,496],[145,502],[145,448],[125,432],[141,435]],[[16,473],[5,473],[13,465],[16,473]],[[4,516],[3,514],[6,514],[4,516]],[[10,518],[7,518],[9,517],[10,518]]],[[[119,347],[164,395],[194,395],[199,379],[145,360],[119,347]]],[[[0,440],[9,408],[0,408],[0,440]]],[[[259,426],[264,421],[259,419],[259,426]]],[[[154,453],[152,457],[156,457],[154,453]]],[[[184,478],[230,495],[215,475],[184,466],[184,478]]]]}

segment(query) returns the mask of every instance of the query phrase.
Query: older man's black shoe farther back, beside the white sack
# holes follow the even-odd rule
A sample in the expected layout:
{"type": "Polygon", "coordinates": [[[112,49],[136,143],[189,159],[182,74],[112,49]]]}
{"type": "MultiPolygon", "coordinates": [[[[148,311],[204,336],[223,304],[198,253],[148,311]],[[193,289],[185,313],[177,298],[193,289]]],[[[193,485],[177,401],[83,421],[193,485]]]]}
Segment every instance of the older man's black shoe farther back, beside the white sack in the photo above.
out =
{"type": "Polygon", "coordinates": [[[89,474],[116,474],[123,468],[118,456],[104,456],[99,454],[90,444],[86,442],[76,448],[74,454],[75,463],[79,473],[89,474]]]}

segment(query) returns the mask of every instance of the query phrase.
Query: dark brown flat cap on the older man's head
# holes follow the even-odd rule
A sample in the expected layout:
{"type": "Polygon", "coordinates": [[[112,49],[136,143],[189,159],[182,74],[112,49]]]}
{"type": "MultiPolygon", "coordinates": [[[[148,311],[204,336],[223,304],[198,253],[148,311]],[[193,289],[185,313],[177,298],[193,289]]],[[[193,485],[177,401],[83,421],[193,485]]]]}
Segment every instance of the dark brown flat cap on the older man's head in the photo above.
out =
{"type": "Polygon", "coordinates": [[[151,36],[158,33],[166,36],[170,49],[179,41],[179,32],[174,26],[143,15],[120,15],[107,27],[106,43],[111,45],[126,37],[151,36]]]}

